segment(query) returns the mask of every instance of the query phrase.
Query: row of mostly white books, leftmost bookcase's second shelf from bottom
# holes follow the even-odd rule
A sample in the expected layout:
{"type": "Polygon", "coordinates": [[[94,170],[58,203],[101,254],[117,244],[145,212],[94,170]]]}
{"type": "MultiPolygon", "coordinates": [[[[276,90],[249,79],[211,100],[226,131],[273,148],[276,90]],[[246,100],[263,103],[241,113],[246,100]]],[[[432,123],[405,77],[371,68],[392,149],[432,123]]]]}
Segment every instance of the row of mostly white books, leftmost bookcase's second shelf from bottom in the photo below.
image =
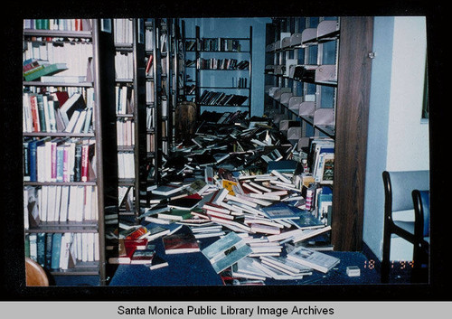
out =
{"type": "Polygon", "coordinates": [[[97,187],[87,186],[25,186],[25,229],[42,223],[64,225],[72,221],[98,220],[97,187]]]}

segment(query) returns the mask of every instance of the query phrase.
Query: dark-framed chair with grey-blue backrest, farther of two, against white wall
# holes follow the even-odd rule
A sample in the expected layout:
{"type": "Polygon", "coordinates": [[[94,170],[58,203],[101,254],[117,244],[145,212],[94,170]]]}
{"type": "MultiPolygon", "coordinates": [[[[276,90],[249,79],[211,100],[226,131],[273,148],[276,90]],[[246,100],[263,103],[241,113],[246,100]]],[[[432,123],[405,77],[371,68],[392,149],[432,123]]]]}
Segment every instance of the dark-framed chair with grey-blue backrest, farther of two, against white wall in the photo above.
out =
{"type": "MultiPolygon", "coordinates": [[[[397,235],[413,244],[413,262],[417,265],[419,250],[416,249],[419,237],[415,235],[415,228],[419,228],[419,218],[414,221],[394,220],[396,211],[414,210],[412,192],[414,190],[429,190],[428,171],[402,171],[382,173],[384,184],[384,227],[383,251],[381,258],[381,282],[389,282],[391,270],[391,237],[397,235]],[[414,251],[416,250],[416,251],[414,251]]],[[[414,279],[414,278],[413,278],[414,279]]]]}

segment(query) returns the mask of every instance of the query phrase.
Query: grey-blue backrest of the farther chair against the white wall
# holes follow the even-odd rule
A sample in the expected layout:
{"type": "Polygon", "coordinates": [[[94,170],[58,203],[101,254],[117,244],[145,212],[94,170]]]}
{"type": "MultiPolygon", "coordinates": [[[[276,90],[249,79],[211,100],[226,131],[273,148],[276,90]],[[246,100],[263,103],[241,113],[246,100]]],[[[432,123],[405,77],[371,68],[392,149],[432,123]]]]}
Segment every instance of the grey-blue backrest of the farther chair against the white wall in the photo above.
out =
{"type": "Polygon", "coordinates": [[[385,199],[390,201],[391,211],[414,208],[411,192],[429,190],[429,171],[383,172],[385,199]]]}

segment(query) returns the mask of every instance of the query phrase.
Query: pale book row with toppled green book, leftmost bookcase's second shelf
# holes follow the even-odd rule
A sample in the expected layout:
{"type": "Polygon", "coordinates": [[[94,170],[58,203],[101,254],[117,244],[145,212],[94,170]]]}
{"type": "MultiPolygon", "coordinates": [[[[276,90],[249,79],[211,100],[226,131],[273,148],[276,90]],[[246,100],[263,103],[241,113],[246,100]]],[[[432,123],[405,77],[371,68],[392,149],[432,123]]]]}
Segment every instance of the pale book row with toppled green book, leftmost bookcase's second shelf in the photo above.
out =
{"type": "MultiPolygon", "coordinates": [[[[24,41],[24,69],[34,67],[33,70],[24,70],[25,80],[37,80],[41,76],[50,76],[58,73],[61,81],[67,82],[92,81],[92,43],[78,42],[44,42],[36,45],[32,40],[24,41]],[[67,59],[67,57],[74,57],[67,59]]],[[[42,81],[51,81],[46,77],[42,81]]],[[[53,79],[53,81],[57,81],[53,79]]]]}

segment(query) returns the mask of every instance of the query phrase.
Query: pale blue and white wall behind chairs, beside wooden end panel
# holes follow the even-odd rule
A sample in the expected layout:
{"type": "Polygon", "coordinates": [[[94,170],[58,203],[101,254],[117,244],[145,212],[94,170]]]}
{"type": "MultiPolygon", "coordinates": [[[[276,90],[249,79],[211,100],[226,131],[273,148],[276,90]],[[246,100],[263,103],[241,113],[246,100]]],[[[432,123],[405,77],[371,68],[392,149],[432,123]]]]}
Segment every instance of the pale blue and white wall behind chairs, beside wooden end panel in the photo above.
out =
{"type": "MultiPolygon", "coordinates": [[[[426,48],[425,17],[375,17],[363,240],[378,258],[383,237],[382,171],[429,167],[428,121],[421,120],[426,48]]],[[[393,239],[391,259],[411,258],[412,245],[393,239]]]]}

